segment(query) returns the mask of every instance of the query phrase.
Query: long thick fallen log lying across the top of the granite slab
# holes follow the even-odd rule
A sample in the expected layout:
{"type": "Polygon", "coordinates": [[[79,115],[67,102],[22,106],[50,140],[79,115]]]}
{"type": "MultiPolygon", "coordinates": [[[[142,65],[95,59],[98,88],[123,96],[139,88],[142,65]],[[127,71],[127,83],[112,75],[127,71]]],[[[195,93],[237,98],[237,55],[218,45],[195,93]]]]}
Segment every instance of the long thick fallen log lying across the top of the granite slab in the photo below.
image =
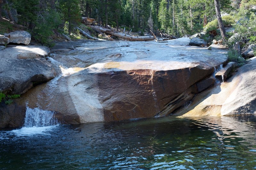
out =
{"type": "Polygon", "coordinates": [[[99,30],[102,33],[113,35],[128,41],[152,41],[155,39],[153,36],[131,36],[131,35],[123,34],[108,28],[103,28],[99,26],[91,26],[91,27],[94,27],[95,29],[99,30]]]}

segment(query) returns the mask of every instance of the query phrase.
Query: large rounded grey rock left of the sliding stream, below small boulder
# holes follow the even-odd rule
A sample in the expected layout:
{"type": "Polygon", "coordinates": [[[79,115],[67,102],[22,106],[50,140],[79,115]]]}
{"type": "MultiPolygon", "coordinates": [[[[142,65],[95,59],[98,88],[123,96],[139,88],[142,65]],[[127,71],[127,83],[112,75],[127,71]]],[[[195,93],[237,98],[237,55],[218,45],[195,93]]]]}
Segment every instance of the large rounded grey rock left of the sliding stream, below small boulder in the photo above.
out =
{"type": "Polygon", "coordinates": [[[0,91],[23,94],[33,85],[54,78],[56,72],[51,63],[45,58],[35,58],[48,53],[49,49],[43,46],[8,45],[6,49],[1,50],[0,91]],[[31,57],[32,59],[19,59],[31,57]]]}

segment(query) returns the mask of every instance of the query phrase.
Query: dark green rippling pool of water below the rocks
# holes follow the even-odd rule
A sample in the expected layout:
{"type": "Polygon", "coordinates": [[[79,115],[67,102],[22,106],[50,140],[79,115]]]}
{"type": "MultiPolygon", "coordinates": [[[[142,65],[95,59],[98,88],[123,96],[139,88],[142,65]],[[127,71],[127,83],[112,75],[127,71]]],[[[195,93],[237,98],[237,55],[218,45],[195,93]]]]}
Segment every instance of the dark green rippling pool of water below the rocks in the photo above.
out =
{"type": "Polygon", "coordinates": [[[255,130],[247,116],[0,131],[0,169],[256,169],[255,130]]]}

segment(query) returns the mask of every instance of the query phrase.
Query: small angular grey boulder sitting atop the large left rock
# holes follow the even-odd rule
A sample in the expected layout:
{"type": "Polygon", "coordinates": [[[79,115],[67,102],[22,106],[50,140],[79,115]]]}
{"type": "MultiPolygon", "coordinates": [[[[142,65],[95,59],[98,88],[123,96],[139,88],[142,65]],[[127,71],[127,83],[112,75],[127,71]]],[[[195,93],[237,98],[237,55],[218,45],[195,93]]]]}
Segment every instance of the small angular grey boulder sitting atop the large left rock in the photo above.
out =
{"type": "Polygon", "coordinates": [[[28,45],[31,40],[31,35],[27,31],[14,31],[4,36],[10,38],[10,43],[28,45]]]}

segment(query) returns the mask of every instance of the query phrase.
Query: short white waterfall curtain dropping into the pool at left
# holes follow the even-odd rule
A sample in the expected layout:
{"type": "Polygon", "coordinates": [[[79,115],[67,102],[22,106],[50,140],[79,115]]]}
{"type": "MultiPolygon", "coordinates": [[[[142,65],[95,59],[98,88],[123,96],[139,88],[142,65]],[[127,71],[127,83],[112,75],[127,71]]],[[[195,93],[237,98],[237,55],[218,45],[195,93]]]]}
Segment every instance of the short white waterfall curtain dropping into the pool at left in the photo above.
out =
{"type": "Polygon", "coordinates": [[[31,109],[27,106],[24,124],[25,127],[47,127],[58,124],[58,120],[54,117],[54,112],[42,110],[39,107],[31,109]]]}

